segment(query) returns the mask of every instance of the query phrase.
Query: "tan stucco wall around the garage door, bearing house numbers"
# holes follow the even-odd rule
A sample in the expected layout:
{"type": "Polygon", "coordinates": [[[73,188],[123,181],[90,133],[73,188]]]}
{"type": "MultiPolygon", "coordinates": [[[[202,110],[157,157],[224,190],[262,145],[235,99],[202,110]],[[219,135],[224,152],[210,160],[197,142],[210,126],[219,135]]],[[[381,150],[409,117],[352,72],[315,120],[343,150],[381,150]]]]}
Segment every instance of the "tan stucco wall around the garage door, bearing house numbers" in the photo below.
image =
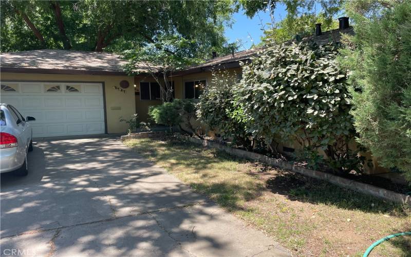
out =
{"type": "Polygon", "coordinates": [[[99,76],[99,75],[60,75],[60,74],[26,74],[1,72],[0,80],[28,81],[73,81],[73,82],[104,82],[107,115],[107,133],[125,133],[127,124],[119,122],[121,116],[128,118],[136,111],[134,97],[134,78],[129,76],[99,76]],[[120,81],[127,80],[130,84],[126,93],[114,89],[120,81]],[[120,109],[111,109],[120,107],[120,109]]]}

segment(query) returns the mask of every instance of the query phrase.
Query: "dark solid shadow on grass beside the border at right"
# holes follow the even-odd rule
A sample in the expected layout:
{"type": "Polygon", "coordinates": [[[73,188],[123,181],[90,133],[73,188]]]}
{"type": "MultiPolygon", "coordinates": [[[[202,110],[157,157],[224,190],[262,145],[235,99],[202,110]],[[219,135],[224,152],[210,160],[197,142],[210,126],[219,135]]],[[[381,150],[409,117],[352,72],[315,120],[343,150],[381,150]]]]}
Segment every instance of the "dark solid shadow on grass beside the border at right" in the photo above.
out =
{"type": "Polygon", "coordinates": [[[268,179],[267,188],[272,192],[287,196],[290,200],[332,205],[340,209],[368,213],[389,212],[397,217],[407,216],[411,211],[399,204],[289,171],[283,171],[268,179]]]}

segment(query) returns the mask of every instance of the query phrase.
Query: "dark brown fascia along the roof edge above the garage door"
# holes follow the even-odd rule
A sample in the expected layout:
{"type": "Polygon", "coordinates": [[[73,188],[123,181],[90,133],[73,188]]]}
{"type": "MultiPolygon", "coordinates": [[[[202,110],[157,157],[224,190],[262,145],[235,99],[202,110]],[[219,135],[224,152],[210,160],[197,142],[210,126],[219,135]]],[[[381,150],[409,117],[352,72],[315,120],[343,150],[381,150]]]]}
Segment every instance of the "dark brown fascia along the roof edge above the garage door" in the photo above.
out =
{"type": "Polygon", "coordinates": [[[0,67],[1,72],[16,73],[41,73],[41,74],[67,74],[67,75],[110,75],[128,76],[124,71],[115,70],[85,70],[85,69],[39,69],[39,68],[20,68],[20,67],[0,67]]]}

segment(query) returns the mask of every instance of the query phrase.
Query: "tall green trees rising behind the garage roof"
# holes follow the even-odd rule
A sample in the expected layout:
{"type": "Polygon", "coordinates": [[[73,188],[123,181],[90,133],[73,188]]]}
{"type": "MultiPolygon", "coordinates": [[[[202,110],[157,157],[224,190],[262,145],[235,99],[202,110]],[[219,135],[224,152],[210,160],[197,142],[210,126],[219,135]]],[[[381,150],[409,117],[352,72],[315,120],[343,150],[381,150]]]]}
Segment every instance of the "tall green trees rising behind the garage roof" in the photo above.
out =
{"type": "Polygon", "coordinates": [[[222,50],[227,1],[1,1],[1,51],[114,51],[156,43],[161,35],[202,42],[204,57],[222,50]]]}

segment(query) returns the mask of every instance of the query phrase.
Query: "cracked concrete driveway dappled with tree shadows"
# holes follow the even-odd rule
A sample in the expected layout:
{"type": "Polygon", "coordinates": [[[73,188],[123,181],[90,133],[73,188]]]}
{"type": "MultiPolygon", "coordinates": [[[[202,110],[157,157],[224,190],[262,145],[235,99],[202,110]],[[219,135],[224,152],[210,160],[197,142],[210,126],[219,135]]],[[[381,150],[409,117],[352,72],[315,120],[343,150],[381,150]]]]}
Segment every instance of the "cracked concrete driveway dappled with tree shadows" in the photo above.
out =
{"type": "Polygon", "coordinates": [[[115,138],[44,141],[1,176],[1,255],[288,256],[115,138]]]}

